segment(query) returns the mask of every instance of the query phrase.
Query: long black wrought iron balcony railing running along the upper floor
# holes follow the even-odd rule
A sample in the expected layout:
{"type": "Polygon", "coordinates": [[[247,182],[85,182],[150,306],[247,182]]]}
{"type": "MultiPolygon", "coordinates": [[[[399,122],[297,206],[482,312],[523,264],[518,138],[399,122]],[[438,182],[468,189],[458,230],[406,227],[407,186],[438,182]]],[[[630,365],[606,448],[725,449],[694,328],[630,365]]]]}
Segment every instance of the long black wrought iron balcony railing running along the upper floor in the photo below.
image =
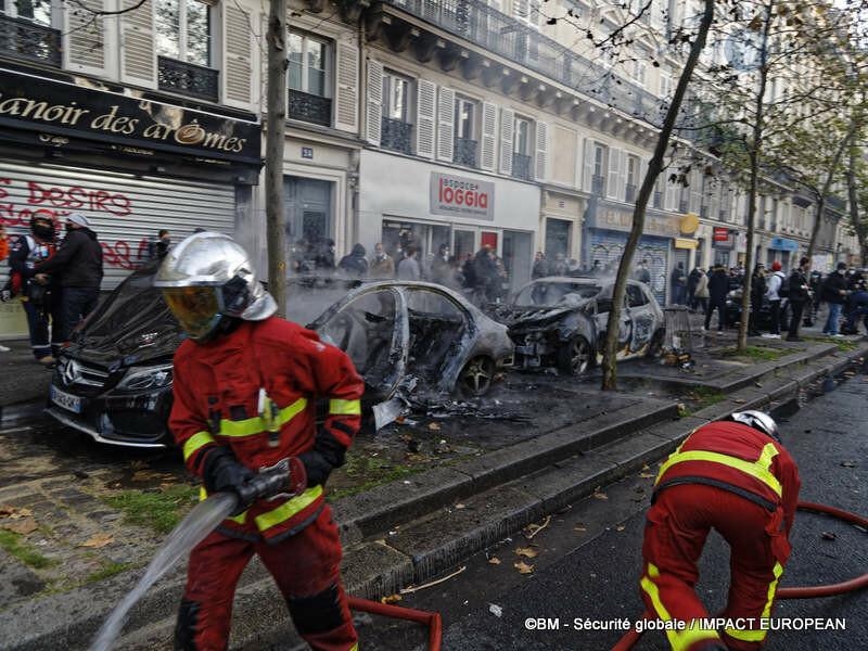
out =
{"type": "Polygon", "coordinates": [[[659,122],[663,101],[481,0],[384,0],[636,117],[659,122]]]}

